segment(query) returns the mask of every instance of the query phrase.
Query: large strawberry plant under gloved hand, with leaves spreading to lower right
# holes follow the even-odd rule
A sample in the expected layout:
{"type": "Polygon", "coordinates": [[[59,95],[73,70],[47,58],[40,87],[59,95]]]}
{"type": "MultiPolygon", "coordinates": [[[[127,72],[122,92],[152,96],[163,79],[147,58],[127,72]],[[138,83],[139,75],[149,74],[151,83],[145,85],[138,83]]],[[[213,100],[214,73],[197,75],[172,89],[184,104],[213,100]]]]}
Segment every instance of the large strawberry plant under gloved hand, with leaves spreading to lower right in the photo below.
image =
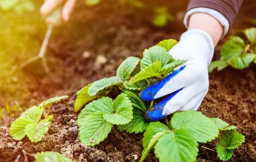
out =
{"type": "Polygon", "coordinates": [[[230,152],[241,145],[242,139],[236,140],[242,135],[236,132],[234,126],[218,118],[211,119],[201,112],[189,110],[175,113],[169,122],[165,118],[166,125],[149,123],[144,119],[145,112],[155,101],[141,101],[139,92],[165,78],[185,62],[169,55],[168,51],[176,43],[173,39],[163,40],[145,49],[142,59],[128,57],[117,68],[115,76],[90,83],[76,93],[74,110],[77,112],[85,105],[77,120],[78,135],[83,144],[99,144],[108,136],[113,125],[117,125],[117,130],[128,133],[146,130],[140,162],[153,148],[160,162],[193,162],[198,154],[198,143],[213,141],[219,137],[220,131],[224,131],[217,146],[218,156],[221,160],[232,156],[230,152]],[[120,93],[114,100],[107,97],[116,92],[120,93]],[[230,142],[227,137],[233,141],[230,142]]]}

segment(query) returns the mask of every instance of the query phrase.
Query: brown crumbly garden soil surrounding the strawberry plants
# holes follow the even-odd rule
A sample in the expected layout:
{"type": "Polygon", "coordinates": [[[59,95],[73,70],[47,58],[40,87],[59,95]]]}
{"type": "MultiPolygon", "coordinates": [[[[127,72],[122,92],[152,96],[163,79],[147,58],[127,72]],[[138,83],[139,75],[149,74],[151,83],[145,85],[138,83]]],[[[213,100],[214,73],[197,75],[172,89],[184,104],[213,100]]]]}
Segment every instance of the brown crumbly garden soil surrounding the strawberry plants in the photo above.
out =
{"type": "MultiPolygon", "coordinates": [[[[159,4],[164,5],[165,2],[159,1],[159,4]]],[[[154,6],[155,2],[148,2],[148,5],[154,6]]],[[[120,133],[113,128],[99,145],[82,145],[76,124],[78,113],[71,109],[74,103],[72,96],[90,82],[115,75],[118,65],[126,57],[141,57],[143,49],[163,39],[178,40],[185,31],[179,15],[184,13],[186,5],[182,1],[174,4],[175,7],[169,6],[176,20],[159,29],[150,23],[150,10],[112,1],[95,7],[78,3],[71,21],[54,30],[47,53],[50,72],[43,76],[28,71],[21,74],[26,76],[28,90],[24,89],[25,95],[17,99],[19,105],[29,107],[49,97],[69,95],[70,107],[68,109],[64,103],[52,107],[50,114],[54,119],[48,133],[38,143],[31,143],[26,137],[22,141],[14,141],[8,132],[15,117],[4,113],[0,120],[0,162],[14,162],[17,158],[19,162],[33,162],[33,155],[39,151],[57,151],[75,162],[139,161],[143,150],[142,134],[120,133]]],[[[252,26],[248,20],[254,14],[242,11],[229,34],[236,28],[252,26]]],[[[43,30],[41,28],[41,32],[43,30]]],[[[221,44],[227,38],[216,47],[214,60],[219,58],[221,44]]],[[[40,42],[42,38],[37,39],[40,42]]],[[[199,108],[206,116],[221,118],[245,135],[245,143],[234,150],[230,162],[256,162],[255,69],[256,65],[252,64],[243,70],[227,67],[221,72],[210,73],[209,92],[199,108]]],[[[9,101],[13,99],[10,94],[1,97],[9,101]]],[[[5,102],[0,101],[3,106],[5,102]]],[[[215,149],[216,144],[217,141],[213,141],[202,145],[215,149]]],[[[199,149],[198,162],[220,161],[215,151],[201,145],[199,149]]],[[[145,162],[157,161],[153,151],[145,159],[145,162]]]]}

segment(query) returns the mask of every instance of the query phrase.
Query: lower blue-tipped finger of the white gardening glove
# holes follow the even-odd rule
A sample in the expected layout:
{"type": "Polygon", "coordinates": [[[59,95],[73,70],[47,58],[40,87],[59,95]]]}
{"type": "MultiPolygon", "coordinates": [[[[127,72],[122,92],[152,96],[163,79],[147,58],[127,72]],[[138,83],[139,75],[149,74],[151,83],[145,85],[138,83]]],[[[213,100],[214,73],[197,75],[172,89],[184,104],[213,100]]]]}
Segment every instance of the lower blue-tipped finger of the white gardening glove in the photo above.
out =
{"type": "Polygon", "coordinates": [[[201,92],[196,92],[196,89],[197,86],[191,85],[171,93],[145,112],[145,120],[157,121],[178,110],[197,109],[208,88],[204,87],[201,92]]]}

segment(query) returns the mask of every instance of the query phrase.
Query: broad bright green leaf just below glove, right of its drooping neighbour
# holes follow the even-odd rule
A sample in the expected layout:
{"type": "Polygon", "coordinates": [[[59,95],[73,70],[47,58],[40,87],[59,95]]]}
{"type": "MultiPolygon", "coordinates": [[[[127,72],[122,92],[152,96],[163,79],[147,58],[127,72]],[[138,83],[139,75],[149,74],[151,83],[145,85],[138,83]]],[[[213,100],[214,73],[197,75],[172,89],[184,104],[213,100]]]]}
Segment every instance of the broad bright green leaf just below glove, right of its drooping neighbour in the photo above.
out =
{"type": "Polygon", "coordinates": [[[174,114],[171,118],[171,126],[174,130],[181,128],[189,130],[200,143],[212,141],[219,134],[218,127],[210,118],[193,110],[174,114]]]}

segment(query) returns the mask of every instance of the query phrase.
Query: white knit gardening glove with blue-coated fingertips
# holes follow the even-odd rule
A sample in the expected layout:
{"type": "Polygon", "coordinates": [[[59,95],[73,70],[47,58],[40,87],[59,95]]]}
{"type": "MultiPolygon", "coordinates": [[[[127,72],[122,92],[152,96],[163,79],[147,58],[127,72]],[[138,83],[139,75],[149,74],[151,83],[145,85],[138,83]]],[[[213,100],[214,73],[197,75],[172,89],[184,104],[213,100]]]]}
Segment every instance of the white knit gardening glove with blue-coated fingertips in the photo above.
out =
{"type": "Polygon", "coordinates": [[[145,120],[156,121],[176,111],[197,110],[208,92],[208,65],[213,58],[214,44],[209,34],[191,29],[182,34],[180,42],[169,54],[187,60],[163,80],[139,93],[143,101],[164,97],[145,112],[145,120]]]}

